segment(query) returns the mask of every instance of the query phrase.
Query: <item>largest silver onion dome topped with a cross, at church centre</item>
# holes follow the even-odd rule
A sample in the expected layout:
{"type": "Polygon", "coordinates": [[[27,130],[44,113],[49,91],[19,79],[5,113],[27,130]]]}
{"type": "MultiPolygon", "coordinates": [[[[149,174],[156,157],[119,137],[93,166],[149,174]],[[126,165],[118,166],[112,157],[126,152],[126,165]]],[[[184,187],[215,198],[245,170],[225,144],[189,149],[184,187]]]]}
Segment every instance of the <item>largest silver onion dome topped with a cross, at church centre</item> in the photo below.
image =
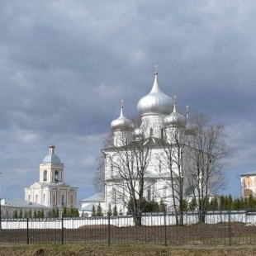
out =
{"type": "Polygon", "coordinates": [[[169,115],[172,111],[173,99],[164,94],[159,87],[158,73],[154,73],[154,84],[148,95],[142,97],[137,105],[140,116],[169,115]]]}

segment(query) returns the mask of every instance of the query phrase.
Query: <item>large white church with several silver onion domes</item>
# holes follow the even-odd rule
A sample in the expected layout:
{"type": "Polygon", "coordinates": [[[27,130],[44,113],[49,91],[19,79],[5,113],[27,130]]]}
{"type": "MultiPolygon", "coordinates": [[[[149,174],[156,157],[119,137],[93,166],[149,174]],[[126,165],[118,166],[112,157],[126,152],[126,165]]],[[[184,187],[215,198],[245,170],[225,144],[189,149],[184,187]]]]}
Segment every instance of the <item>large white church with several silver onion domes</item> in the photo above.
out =
{"type": "Polygon", "coordinates": [[[192,136],[188,107],[186,116],[178,113],[176,97],[162,92],[155,72],[153,87],[140,99],[137,111],[140,124],[135,127],[135,121],[124,116],[121,102],[121,114],[111,122],[111,139],[102,149],[106,209],[116,207],[122,214],[129,213],[131,193],[139,198],[143,190],[145,201],[162,203],[173,211],[178,193],[186,194],[187,201],[190,197],[186,170],[193,167],[190,147],[183,143],[183,136],[186,141],[192,136]]]}

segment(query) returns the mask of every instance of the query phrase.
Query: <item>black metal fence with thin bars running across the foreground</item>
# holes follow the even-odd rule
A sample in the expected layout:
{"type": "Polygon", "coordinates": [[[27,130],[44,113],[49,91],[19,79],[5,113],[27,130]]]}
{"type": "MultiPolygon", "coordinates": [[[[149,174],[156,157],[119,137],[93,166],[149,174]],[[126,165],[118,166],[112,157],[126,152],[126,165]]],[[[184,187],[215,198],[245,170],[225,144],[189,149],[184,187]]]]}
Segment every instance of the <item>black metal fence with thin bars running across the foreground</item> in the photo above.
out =
{"type": "Polygon", "coordinates": [[[173,213],[132,216],[2,220],[1,243],[17,244],[256,244],[256,213],[208,211],[205,222],[197,212],[184,212],[184,225],[173,213]]]}

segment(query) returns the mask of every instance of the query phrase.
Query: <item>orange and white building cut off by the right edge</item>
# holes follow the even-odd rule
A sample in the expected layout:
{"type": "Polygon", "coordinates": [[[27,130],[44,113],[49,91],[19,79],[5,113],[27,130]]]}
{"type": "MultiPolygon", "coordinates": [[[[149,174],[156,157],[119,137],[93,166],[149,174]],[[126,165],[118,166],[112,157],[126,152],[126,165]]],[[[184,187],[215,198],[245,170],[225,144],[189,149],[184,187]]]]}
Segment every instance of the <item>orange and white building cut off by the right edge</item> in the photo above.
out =
{"type": "Polygon", "coordinates": [[[243,173],[240,175],[241,196],[243,198],[252,195],[256,196],[256,171],[243,173]]]}

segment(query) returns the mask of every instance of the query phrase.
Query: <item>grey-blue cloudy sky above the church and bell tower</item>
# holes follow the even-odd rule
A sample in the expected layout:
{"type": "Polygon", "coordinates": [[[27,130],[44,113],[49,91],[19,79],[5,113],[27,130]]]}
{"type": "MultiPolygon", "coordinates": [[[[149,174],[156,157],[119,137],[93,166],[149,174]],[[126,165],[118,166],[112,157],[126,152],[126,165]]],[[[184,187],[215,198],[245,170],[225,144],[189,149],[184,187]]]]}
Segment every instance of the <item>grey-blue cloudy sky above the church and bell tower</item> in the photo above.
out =
{"type": "Polygon", "coordinates": [[[2,197],[24,198],[49,152],[64,180],[91,196],[110,123],[137,114],[154,82],[178,107],[225,125],[236,155],[224,194],[240,196],[237,175],[256,169],[256,2],[0,2],[0,172],[2,197]]]}

